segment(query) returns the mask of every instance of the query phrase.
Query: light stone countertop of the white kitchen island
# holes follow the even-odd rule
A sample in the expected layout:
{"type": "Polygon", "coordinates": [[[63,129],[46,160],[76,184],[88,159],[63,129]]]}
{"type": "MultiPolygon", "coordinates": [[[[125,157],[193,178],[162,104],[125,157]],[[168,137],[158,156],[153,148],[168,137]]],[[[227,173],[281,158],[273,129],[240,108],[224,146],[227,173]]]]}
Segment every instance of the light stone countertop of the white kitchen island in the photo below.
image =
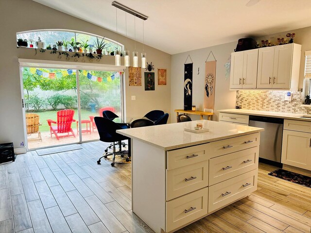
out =
{"type": "Polygon", "coordinates": [[[138,139],[163,150],[173,150],[261,131],[263,131],[262,128],[211,120],[196,120],[117,130],[117,133],[138,139]],[[203,128],[209,129],[209,132],[191,133],[184,131],[184,128],[194,129],[197,122],[203,122],[203,128]]]}

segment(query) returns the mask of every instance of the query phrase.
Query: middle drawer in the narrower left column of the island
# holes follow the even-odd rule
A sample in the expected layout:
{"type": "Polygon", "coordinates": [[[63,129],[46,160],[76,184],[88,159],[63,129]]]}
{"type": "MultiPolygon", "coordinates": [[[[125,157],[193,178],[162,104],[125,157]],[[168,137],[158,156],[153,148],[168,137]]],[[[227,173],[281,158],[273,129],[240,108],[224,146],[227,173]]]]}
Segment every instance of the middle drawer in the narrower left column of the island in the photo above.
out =
{"type": "Polygon", "coordinates": [[[208,160],[166,170],[166,200],[208,186],[208,160]]]}

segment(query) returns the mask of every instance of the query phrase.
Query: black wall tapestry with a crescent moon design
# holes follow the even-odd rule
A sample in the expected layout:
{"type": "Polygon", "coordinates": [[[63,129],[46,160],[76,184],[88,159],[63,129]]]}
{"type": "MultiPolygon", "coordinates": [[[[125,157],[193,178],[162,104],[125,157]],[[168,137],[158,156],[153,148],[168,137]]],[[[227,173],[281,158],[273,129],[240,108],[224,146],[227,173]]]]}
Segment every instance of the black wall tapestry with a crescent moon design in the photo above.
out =
{"type": "MultiPolygon", "coordinates": [[[[190,55],[188,55],[190,57],[190,55]]],[[[187,57],[187,59],[188,59],[187,57]]],[[[186,62],[187,62],[186,59],[186,62]]],[[[184,71],[184,110],[191,110],[192,108],[192,68],[193,62],[190,57],[191,63],[186,64],[184,71]]]]}

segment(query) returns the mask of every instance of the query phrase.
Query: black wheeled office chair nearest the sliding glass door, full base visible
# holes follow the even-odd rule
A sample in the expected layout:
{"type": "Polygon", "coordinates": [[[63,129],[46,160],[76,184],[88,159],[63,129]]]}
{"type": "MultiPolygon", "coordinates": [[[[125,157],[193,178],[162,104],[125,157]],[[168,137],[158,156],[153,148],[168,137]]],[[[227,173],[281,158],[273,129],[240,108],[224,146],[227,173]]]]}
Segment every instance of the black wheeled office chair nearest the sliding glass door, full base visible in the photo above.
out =
{"type": "Polygon", "coordinates": [[[107,156],[112,155],[112,163],[111,166],[115,165],[116,161],[116,155],[126,156],[126,162],[130,161],[131,155],[129,154],[130,150],[127,151],[116,151],[115,143],[122,140],[130,140],[130,138],[123,136],[119,133],[116,133],[116,130],[122,130],[121,126],[117,123],[113,122],[112,120],[109,120],[104,117],[95,116],[94,121],[100,136],[100,139],[102,142],[112,142],[112,152],[104,152],[104,155],[99,158],[97,161],[97,164],[101,164],[101,159],[104,157],[105,159],[107,156]]]}

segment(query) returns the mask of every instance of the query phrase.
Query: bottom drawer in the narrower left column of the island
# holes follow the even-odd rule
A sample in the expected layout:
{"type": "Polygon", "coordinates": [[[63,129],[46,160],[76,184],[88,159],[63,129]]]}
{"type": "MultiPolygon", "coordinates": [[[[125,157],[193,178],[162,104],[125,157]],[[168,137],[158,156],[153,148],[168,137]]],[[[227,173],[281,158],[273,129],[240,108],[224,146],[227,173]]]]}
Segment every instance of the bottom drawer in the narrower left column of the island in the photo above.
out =
{"type": "Polygon", "coordinates": [[[206,187],[167,201],[165,231],[173,231],[192,220],[207,215],[207,196],[208,188],[206,187]]]}

